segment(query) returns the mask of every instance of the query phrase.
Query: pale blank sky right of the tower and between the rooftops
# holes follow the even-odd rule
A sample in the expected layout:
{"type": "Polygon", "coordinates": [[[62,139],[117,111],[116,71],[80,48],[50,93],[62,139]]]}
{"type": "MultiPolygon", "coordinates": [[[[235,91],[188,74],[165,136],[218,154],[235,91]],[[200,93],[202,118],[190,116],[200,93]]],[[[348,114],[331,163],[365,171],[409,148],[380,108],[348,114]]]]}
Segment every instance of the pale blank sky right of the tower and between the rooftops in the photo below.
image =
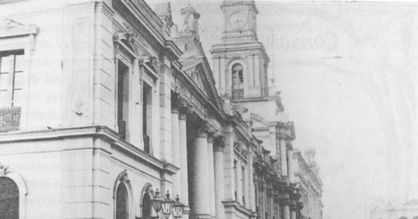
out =
{"type": "MultiPolygon", "coordinates": [[[[209,60],[221,38],[220,3],[191,1],[209,60]]],[[[293,145],[316,148],[324,218],[369,218],[378,197],[392,204],[417,198],[417,5],[256,5],[270,77],[295,122],[293,145]]],[[[185,6],[171,1],[176,24],[185,6]]]]}

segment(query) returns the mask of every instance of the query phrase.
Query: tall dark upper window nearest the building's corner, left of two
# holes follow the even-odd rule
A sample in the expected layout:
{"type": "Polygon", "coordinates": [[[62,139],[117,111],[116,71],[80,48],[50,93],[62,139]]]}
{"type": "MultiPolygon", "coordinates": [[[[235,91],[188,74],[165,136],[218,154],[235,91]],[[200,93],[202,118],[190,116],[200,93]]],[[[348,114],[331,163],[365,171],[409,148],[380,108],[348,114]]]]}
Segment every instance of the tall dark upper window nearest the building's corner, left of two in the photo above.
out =
{"type": "Polygon", "coordinates": [[[118,133],[126,139],[129,108],[129,67],[118,60],[118,133]]]}

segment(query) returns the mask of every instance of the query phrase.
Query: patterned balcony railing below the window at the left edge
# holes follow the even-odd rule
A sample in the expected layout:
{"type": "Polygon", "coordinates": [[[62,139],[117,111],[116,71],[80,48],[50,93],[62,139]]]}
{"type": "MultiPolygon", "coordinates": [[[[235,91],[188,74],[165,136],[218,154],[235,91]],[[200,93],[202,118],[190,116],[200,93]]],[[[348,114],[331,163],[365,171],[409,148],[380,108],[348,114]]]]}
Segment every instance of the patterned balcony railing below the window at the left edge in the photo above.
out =
{"type": "Polygon", "coordinates": [[[20,114],[20,106],[0,108],[0,132],[19,131],[20,114]]]}

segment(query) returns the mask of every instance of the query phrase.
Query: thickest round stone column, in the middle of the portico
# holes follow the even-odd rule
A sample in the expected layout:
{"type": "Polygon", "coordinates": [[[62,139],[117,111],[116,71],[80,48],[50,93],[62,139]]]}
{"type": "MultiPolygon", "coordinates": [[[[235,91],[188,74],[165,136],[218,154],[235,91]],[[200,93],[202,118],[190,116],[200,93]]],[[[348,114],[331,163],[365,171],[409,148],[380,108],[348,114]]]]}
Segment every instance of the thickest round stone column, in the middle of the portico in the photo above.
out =
{"type": "Polygon", "coordinates": [[[192,213],[195,219],[210,218],[210,195],[208,179],[208,127],[201,124],[197,130],[192,149],[192,213]]]}

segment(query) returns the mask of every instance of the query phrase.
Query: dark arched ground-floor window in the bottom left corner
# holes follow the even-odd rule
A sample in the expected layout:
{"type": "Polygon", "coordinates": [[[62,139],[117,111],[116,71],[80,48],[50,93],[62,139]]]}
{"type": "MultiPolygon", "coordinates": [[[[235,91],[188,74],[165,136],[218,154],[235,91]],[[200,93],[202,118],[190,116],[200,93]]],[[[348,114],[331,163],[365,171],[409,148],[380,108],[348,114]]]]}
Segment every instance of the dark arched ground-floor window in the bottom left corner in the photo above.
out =
{"type": "Polygon", "coordinates": [[[8,177],[0,177],[0,218],[19,219],[19,188],[8,177]]]}

